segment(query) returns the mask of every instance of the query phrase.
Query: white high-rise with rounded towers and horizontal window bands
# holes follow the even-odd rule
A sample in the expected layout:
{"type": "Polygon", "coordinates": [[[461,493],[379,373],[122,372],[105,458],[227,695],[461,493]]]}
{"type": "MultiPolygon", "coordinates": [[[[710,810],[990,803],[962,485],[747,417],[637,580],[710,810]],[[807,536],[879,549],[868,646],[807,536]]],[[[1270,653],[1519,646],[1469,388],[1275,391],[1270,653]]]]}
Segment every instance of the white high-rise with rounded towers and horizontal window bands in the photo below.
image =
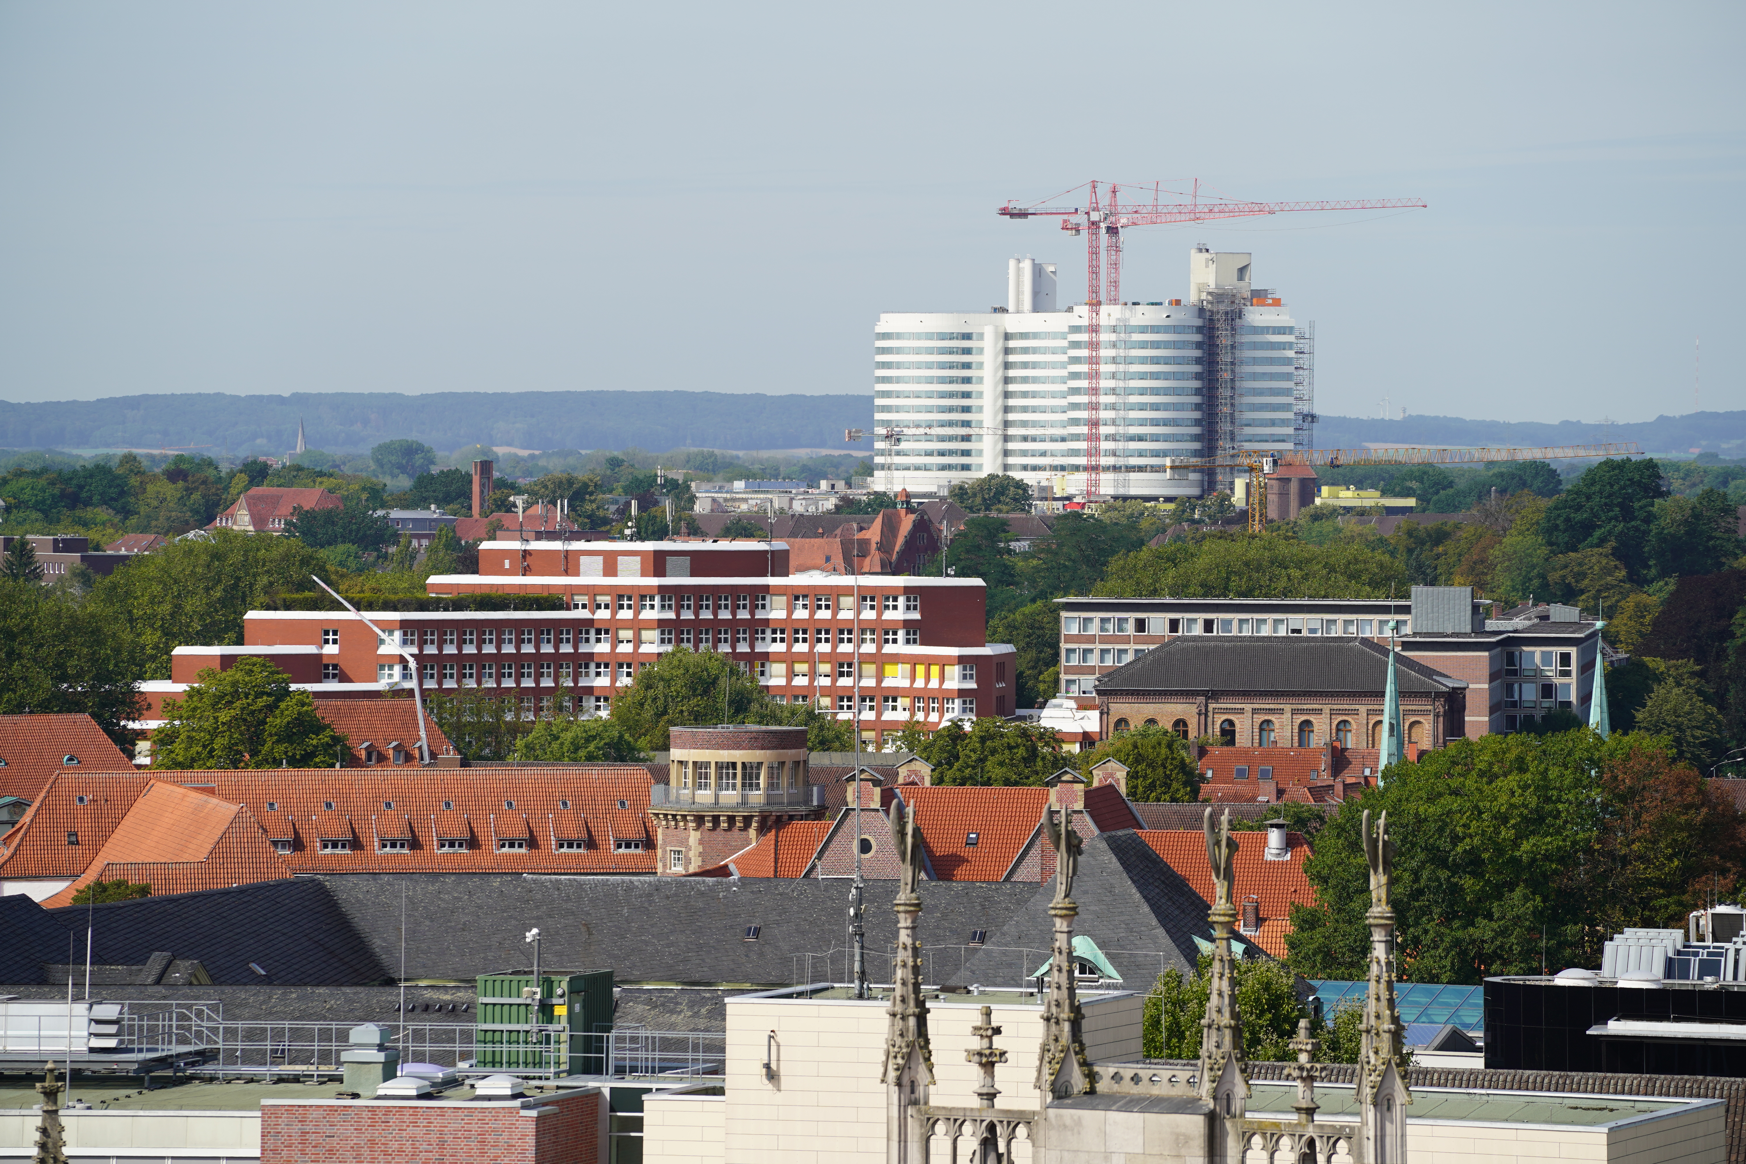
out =
{"type": "MultiPolygon", "coordinates": [[[[883,312],[873,326],[875,482],[945,490],[986,473],[1086,489],[1086,305],[1056,307],[1055,264],[1007,264],[1006,307],[883,312]],[[897,431],[892,431],[897,429],[897,431]]],[[[1103,496],[1229,487],[1166,457],[1292,448],[1313,422],[1311,335],[1250,257],[1196,246],[1189,295],[1102,307],[1103,496]]]]}

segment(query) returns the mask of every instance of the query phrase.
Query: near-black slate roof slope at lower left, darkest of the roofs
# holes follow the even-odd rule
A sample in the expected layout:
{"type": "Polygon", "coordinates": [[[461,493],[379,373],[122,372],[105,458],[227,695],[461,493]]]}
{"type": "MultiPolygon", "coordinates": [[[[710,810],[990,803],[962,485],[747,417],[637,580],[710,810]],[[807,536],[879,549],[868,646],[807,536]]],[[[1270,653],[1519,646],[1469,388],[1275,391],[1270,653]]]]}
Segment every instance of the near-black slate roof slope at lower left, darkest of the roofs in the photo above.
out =
{"type": "MultiPolygon", "coordinates": [[[[87,907],[68,906],[51,916],[82,934],[87,907]]],[[[327,885],[311,878],[110,902],[91,907],[89,916],[94,956],[110,965],[143,965],[169,951],[197,958],[211,981],[223,984],[365,986],[389,977],[388,963],[377,962],[327,885]],[[267,974],[255,974],[250,962],[267,974]]],[[[61,934],[65,942],[66,930],[61,934]]],[[[65,944],[42,962],[66,962],[65,944]]]]}

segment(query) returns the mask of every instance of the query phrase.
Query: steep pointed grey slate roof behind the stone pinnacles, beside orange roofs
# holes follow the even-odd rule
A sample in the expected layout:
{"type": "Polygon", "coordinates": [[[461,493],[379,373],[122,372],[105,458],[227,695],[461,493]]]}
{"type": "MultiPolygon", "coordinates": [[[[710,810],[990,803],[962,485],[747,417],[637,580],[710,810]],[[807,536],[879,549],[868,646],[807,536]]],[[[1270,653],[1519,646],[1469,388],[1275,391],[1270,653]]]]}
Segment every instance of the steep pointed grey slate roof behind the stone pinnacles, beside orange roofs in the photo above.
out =
{"type": "MultiPolygon", "coordinates": [[[[932,890],[931,883],[922,892],[924,902],[932,890]]],[[[1006,927],[990,930],[986,948],[971,956],[959,974],[948,976],[946,984],[1014,986],[1020,974],[1042,965],[1055,937],[1051,900],[1053,880],[1037,887],[1006,927]],[[1014,948],[1027,951],[1028,960],[1018,974],[1013,970],[1018,960],[1014,948]]],[[[1193,974],[1200,958],[1194,937],[1212,937],[1206,900],[1131,829],[1102,832],[1086,841],[1074,878],[1074,900],[1079,904],[1074,934],[1090,935],[1124,986],[1133,989],[1149,989],[1172,967],[1193,974]]],[[[925,921],[927,914],[922,918],[925,921]]]]}

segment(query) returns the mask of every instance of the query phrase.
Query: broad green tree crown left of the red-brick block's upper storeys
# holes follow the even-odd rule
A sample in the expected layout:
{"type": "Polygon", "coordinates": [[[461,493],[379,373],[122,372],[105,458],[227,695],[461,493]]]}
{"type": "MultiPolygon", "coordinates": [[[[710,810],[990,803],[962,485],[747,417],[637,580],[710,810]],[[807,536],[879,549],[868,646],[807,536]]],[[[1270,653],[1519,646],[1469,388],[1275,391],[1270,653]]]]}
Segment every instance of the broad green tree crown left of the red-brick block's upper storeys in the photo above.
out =
{"type": "Polygon", "coordinates": [[[143,553],[98,581],[87,606],[134,647],[136,679],[169,679],[180,646],[237,646],[243,616],[274,595],[333,581],[320,551],[295,537],[251,537],[218,529],[143,553]]]}

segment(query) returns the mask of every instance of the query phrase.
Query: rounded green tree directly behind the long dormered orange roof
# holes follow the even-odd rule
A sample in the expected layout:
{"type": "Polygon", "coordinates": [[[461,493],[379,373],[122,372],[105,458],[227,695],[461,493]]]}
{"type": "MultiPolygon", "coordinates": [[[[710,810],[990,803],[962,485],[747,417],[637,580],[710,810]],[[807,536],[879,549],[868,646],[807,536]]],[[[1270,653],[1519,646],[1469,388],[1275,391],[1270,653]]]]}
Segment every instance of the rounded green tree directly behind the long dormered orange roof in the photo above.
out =
{"type": "Polygon", "coordinates": [[[307,691],[293,691],[290,675],[244,654],[225,670],[203,670],[183,698],[164,700],[152,766],[327,768],[344,745],[307,691]]]}

